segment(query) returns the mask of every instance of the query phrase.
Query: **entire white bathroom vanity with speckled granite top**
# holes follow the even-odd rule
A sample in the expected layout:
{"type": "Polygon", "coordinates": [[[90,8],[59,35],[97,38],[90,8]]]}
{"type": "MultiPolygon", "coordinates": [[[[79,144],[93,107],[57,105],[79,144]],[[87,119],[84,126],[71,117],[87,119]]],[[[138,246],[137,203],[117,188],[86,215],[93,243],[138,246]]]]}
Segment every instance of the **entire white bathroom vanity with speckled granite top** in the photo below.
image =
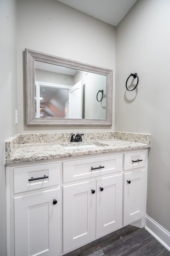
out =
{"type": "Polygon", "coordinates": [[[145,225],[150,135],[127,141],[113,133],[79,149],[65,148],[68,138],[6,142],[8,256],[59,256],[125,225],[145,225]]]}

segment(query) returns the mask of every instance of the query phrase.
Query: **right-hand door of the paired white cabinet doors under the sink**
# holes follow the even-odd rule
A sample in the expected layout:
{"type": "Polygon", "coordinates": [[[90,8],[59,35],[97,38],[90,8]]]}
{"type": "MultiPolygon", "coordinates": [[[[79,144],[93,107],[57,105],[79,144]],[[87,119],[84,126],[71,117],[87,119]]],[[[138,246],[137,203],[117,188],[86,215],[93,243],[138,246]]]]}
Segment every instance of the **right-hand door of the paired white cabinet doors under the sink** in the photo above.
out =
{"type": "Polygon", "coordinates": [[[123,175],[97,179],[96,238],[122,226],[123,175]]]}

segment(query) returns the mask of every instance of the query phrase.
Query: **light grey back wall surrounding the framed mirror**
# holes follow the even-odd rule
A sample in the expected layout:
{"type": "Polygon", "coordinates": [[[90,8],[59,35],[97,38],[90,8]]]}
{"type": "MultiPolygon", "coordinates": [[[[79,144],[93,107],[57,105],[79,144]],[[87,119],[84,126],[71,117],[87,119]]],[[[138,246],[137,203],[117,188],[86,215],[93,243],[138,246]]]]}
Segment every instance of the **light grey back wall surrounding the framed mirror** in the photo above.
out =
{"type": "Polygon", "coordinates": [[[28,48],[113,69],[114,95],[115,38],[115,27],[56,0],[18,0],[19,133],[114,130],[114,125],[112,127],[26,126],[24,50],[28,48]]]}

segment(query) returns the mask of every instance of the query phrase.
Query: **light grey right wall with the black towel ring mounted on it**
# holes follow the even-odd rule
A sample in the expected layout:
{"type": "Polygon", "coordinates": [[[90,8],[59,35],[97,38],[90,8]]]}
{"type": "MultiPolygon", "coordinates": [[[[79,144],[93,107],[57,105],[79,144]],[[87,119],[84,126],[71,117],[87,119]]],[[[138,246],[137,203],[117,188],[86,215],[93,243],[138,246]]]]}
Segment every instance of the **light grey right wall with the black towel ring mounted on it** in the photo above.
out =
{"type": "Polygon", "coordinates": [[[115,130],[151,133],[147,214],[170,231],[170,1],[138,0],[116,27],[115,130]],[[137,90],[125,82],[138,73],[137,90]]]}

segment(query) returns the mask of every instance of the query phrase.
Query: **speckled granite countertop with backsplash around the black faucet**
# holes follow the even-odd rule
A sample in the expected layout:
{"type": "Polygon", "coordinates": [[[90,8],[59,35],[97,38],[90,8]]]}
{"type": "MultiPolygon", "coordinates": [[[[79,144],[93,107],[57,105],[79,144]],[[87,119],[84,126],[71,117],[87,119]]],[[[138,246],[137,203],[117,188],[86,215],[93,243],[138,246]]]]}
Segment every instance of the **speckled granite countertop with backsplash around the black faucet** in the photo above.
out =
{"type": "MultiPolygon", "coordinates": [[[[76,134],[76,133],[75,133],[76,134]]],[[[98,132],[84,133],[83,142],[69,142],[71,133],[19,134],[5,142],[5,163],[91,155],[150,147],[150,134],[98,132]],[[96,147],[65,146],[98,144],[96,147]]]]}

